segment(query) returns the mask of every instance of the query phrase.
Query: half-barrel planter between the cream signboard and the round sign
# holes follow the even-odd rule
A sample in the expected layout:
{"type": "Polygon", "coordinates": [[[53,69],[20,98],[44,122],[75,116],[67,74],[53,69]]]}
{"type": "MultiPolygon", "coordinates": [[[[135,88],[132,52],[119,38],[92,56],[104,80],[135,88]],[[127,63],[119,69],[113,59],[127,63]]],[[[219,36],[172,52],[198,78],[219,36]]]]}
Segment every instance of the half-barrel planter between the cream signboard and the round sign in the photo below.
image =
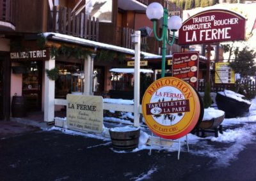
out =
{"type": "Polygon", "coordinates": [[[131,151],[138,147],[140,129],[134,131],[111,131],[109,129],[109,134],[115,150],[131,151]]]}

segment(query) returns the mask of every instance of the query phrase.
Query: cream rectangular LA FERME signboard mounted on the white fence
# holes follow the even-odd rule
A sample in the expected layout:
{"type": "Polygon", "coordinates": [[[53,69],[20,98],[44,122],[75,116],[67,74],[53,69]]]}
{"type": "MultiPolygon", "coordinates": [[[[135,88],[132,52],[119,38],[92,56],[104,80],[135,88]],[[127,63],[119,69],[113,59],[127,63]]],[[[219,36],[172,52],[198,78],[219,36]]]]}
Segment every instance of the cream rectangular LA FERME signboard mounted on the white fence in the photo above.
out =
{"type": "Polygon", "coordinates": [[[93,133],[102,132],[102,96],[81,96],[68,94],[67,102],[68,129],[93,133]]]}

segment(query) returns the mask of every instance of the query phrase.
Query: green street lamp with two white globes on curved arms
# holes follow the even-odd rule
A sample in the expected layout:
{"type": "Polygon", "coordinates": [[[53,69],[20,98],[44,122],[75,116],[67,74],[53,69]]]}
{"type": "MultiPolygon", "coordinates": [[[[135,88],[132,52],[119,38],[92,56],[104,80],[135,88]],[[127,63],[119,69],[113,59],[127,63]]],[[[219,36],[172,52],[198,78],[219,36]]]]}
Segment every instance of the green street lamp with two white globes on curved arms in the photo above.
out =
{"type": "Polygon", "coordinates": [[[179,16],[172,16],[168,18],[168,10],[166,8],[163,8],[163,6],[160,3],[150,3],[146,10],[146,15],[148,19],[152,20],[153,22],[153,31],[154,36],[157,41],[163,41],[162,46],[162,73],[161,77],[164,77],[164,71],[165,71],[165,55],[166,55],[166,43],[168,45],[172,46],[175,40],[175,31],[180,29],[182,25],[182,20],[179,16]],[[156,22],[160,18],[163,17],[163,31],[162,35],[159,38],[156,33],[156,22]],[[170,42],[168,40],[167,36],[167,29],[170,29],[170,31],[173,32],[172,41],[170,42]]]}

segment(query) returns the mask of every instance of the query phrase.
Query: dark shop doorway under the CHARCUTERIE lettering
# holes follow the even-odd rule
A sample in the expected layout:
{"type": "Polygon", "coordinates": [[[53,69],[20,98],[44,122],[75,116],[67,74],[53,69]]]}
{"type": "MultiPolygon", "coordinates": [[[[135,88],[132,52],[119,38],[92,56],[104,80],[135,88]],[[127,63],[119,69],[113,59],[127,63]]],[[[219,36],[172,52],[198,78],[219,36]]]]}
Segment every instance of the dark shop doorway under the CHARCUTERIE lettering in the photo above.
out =
{"type": "Polygon", "coordinates": [[[29,62],[22,74],[22,96],[26,97],[28,112],[42,110],[42,61],[29,62]]]}

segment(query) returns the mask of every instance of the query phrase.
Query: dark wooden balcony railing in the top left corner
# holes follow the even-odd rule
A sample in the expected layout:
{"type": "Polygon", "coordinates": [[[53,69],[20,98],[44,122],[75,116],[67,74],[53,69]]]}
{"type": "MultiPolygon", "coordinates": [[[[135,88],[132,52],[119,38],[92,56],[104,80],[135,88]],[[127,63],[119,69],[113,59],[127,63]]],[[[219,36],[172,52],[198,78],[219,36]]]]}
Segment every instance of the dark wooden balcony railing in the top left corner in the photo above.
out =
{"type": "Polygon", "coordinates": [[[0,21],[13,23],[12,0],[0,0],[0,21]]]}

